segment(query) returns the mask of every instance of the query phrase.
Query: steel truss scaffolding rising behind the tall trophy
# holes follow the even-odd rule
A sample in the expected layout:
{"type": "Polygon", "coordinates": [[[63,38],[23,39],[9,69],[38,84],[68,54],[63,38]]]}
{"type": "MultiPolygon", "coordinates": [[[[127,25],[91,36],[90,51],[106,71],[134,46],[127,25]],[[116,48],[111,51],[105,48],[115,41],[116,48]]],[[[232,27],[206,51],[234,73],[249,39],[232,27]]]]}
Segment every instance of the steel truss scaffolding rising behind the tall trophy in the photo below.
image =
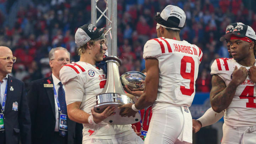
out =
{"type": "Polygon", "coordinates": [[[117,0],[104,0],[106,9],[103,12],[97,7],[98,1],[100,0],[91,0],[91,23],[97,26],[102,17],[106,18],[108,55],[117,56],[117,0]],[[97,10],[101,13],[98,19],[97,10]]]}

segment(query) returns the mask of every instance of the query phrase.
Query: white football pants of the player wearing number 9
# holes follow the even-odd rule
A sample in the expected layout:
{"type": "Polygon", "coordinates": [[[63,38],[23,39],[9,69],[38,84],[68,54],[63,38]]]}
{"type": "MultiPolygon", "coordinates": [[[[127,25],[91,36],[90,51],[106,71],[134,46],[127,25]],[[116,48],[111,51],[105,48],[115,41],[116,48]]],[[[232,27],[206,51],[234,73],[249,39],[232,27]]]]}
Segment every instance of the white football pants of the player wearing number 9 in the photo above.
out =
{"type": "Polygon", "coordinates": [[[153,111],[144,144],[189,144],[177,139],[183,125],[184,116],[180,106],[153,111]]]}

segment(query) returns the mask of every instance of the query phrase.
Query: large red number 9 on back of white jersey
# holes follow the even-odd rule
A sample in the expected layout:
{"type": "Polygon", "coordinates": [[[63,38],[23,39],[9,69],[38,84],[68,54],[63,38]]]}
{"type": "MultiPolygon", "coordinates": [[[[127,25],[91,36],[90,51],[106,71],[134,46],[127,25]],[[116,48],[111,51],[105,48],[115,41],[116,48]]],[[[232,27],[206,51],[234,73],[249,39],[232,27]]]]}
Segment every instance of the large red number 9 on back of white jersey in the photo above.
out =
{"type": "Polygon", "coordinates": [[[180,91],[183,95],[191,96],[194,93],[194,60],[192,57],[184,56],[181,59],[181,71],[180,74],[183,79],[190,80],[190,88],[186,89],[185,86],[180,86],[180,91]],[[186,72],[187,63],[191,64],[190,73],[186,72]]]}

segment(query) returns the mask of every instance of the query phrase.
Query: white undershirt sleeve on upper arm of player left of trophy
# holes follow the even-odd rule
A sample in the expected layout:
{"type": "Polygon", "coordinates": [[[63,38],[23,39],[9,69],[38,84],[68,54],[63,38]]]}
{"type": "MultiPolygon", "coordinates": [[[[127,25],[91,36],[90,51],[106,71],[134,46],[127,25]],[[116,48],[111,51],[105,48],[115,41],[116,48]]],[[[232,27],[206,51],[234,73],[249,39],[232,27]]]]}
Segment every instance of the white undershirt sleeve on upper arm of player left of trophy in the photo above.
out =
{"type": "Polygon", "coordinates": [[[80,82],[74,79],[65,83],[66,105],[78,101],[82,102],[83,96],[84,87],[80,84],[80,82]]]}

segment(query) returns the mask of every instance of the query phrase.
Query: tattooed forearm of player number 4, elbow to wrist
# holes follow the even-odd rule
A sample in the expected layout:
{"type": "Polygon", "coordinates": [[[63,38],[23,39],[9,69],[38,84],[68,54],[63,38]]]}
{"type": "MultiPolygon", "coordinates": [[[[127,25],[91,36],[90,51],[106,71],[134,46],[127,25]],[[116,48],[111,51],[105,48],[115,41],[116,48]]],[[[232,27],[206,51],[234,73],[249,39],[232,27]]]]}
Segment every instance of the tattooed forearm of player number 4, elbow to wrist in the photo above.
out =
{"type": "MultiPolygon", "coordinates": [[[[238,84],[236,84],[236,82],[234,81],[231,81],[223,91],[219,92],[215,96],[210,96],[210,97],[213,97],[211,98],[210,102],[215,112],[220,113],[230,105],[235,95],[235,90],[237,87],[238,87],[238,84]]],[[[212,91],[210,95],[213,95],[212,91]]]]}

